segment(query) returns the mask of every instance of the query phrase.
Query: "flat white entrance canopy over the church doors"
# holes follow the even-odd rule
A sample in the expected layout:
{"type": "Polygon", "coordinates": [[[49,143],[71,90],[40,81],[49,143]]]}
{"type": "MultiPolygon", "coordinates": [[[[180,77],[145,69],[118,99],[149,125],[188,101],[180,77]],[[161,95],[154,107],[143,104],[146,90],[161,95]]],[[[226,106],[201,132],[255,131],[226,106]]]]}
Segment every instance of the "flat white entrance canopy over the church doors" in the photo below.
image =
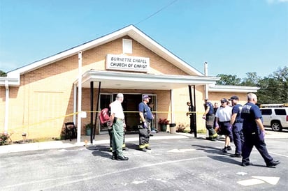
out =
{"type": "MultiPolygon", "coordinates": [[[[101,89],[169,90],[188,85],[215,84],[217,80],[219,77],[89,70],[82,75],[82,88],[89,88],[90,82],[101,82],[101,89]]],[[[78,86],[78,80],[74,84],[78,86]]]]}

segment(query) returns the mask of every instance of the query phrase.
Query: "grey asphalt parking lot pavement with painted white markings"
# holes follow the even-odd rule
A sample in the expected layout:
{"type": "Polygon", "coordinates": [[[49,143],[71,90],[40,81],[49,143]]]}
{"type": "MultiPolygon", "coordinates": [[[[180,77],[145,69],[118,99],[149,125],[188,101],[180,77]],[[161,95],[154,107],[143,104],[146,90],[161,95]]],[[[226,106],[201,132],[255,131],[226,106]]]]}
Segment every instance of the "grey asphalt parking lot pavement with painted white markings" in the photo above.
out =
{"type": "Polygon", "coordinates": [[[234,150],[222,153],[222,138],[164,132],[151,137],[147,153],[138,150],[136,135],[127,135],[128,161],[111,160],[108,142],[4,153],[0,190],[287,190],[287,138],[272,134],[266,144],[281,161],[275,169],[265,166],[256,149],[253,166],[242,167],[241,158],[230,156],[234,150]]]}

